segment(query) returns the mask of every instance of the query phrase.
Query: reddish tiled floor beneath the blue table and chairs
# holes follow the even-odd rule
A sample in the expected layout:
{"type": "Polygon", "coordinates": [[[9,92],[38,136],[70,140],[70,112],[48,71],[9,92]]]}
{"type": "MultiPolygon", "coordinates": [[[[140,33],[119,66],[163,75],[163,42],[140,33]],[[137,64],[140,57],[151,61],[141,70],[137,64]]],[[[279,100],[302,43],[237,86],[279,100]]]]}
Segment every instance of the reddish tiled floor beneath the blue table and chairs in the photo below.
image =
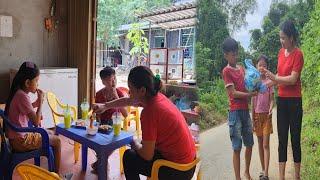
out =
{"type": "MultiPolygon", "coordinates": [[[[62,142],[62,157],[61,157],[61,167],[60,172],[61,173],[73,173],[73,180],[91,180],[91,179],[98,179],[98,176],[91,173],[91,163],[93,163],[95,159],[94,151],[89,149],[88,151],[88,166],[87,171],[82,172],[81,171],[81,153],[80,153],[80,160],[76,164],[74,163],[74,157],[73,157],[73,146],[71,143],[73,143],[71,140],[59,136],[61,138],[62,142]]],[[[33,160],[26,161],[27,163],[32,163],[33,160]]],[[[119,160],[119,152],[118,150],[114,151],[113,154],[109,157],[109,165],[110,165],[110,174],[108,175],[110,180],[124,180],[124,175],[120,175],[120,160],[119,160]]],[[[41,167],[47,169],[47,159],[41,158],[41,167]]],[[[14,180],[18,180],[19,175],[17,172],[14,172],[13,175],[14,180]]],[[[141,179],[145,179],[144,177],[141,177],[141,179]]]]}

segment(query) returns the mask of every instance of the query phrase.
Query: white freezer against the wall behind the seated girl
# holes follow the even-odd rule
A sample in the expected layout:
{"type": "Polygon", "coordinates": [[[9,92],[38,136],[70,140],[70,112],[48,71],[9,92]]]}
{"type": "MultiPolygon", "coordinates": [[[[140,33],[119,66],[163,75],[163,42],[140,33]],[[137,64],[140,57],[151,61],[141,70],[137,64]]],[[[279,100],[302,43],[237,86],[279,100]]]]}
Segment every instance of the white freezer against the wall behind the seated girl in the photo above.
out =
{"type": "MultiPolygon", "coordinates": [[[[10,82],[12,82],[17,70],[10,70],[10,82]]],[[[11,83],[10,83],[11,84],[11,83]]],[[[39,89],[45,93],[48,91],[56,94],[57,98],[63,104],[69,104],[78,107],[78,69],[77,68],[40,68],[39,89]]],[[[32,101],[37,98],[36,94],[29,94],[32,101]]],[[[63,113],[62,109],[58,109],[63,113]]],[[[48,105],[47,97],[43,102],[42,109],[44,128],[54,127],[52,113],[48,105]]]]}

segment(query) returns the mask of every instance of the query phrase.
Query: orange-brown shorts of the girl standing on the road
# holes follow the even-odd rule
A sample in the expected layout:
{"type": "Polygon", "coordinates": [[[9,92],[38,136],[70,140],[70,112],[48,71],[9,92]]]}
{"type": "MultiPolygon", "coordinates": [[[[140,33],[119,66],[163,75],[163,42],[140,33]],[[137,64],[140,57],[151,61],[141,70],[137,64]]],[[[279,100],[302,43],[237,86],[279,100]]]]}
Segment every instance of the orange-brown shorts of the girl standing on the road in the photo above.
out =
{"type": "Polygon", "coordinates": [[[269,113],[255,113],[253,120],[254,132],[257,136],[266,136],[273,133],[272,115],[269,115],[269,113]]]}

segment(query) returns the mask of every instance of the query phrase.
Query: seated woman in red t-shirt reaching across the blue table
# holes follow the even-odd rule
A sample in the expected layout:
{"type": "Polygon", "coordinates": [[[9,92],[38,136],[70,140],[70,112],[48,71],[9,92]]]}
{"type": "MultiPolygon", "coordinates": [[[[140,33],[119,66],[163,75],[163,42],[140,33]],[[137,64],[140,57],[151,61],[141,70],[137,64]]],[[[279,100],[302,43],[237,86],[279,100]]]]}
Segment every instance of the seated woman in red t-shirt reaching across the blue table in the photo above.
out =
{"type": "MultiPolygon", "coordinates": [[[[137,66],[128,77],[130,97],[105,104],[96,104],[94,110],[123,106],[143,107],[141,112],[142,141],[134,140],[124,153],[123,165],[126,179],[140,179],[139,174],[151,175],[153,162],[166,159],[175,163],[190,163],[196,157],[195,144],[188,125],[177,107],[159,92],[161,80],[145,66],[137,66]]],[[[191,179],[195,167],[189,171],[161,168],[159,179],[191,179]]]]}

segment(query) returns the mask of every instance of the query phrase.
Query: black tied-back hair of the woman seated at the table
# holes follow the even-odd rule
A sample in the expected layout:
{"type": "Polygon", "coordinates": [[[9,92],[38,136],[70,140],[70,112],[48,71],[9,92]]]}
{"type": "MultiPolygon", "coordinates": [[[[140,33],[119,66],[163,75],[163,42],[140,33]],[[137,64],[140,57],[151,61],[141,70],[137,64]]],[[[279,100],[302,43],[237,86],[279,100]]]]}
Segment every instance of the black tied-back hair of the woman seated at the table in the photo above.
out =
{"type": "Polygon", "coordinates": [[[131,69],[128,81],[132,83],[135,88],[145,87],[149,97],[157,95],[162,87],[161,80],[156,78],[152,71],[146,66],[137,66],[131,69]]]}

